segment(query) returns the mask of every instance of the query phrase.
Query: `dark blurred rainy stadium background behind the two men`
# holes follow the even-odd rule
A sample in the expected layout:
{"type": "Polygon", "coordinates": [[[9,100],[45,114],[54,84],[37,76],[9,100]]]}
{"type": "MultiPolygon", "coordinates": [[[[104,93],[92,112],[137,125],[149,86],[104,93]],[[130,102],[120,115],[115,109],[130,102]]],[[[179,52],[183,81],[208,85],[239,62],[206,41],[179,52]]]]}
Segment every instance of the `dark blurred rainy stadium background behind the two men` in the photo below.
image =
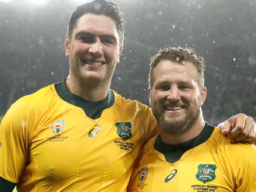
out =
{"type": "MultiPolygon", "coordinates": [[[[0,116],[18,98],[69,74],[64,37],[82,0],[0,0],[0,116]]],[[[126,15],[124,50],[111,88],[148,104],[148,59],[187,46],[206,60],[204,118],[256,118],[254,0],[114,0],[126,15]]]]}

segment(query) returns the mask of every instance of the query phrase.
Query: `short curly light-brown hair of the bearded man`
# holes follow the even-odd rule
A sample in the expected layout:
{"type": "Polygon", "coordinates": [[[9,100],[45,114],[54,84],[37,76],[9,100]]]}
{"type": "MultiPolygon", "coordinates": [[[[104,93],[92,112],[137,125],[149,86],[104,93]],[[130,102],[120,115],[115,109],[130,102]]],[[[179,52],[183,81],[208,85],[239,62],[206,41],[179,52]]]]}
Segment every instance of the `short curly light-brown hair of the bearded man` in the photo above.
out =
{"type": "Polygon", "coordinates": [[[150,69],[148,75],[148,86],[152,89],[152,71],[154,67],[158,65],[161,60],[176,61],[178,63],[182,61],[190,61],[195,65],[198,72],[198,85],[200,88],[204,86],[204,70],[205,61],[204,58],[194,52],[192,48],[183,47],[169,47],[165,46],[160,49],[154,56],[150,58],[150,69]]]}

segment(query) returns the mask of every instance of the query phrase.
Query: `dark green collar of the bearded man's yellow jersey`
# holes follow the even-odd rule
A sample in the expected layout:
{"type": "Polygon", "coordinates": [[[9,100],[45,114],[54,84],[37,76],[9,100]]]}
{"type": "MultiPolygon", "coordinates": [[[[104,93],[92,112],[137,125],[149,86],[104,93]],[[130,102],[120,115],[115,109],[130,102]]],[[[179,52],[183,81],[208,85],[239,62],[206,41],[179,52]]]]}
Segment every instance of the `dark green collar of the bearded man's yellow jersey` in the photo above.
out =
{"type": "Polygon", "coordinates": [[[213,133],[214,128],[215,127],[211,126],[206,122],[204,129],[197,137],[187,142],[174,144],[174,145],[163,142],[160,135],[158,135],[154,143],[154,149],[159,151],[160,153],[163,153],[167,162],[174,163],[180,160],[182,155],[187,150],[195,148],[196,146],[206,142],[206,140],[208,140],[208,138],[211,137],[211,134],[213,133]]]}

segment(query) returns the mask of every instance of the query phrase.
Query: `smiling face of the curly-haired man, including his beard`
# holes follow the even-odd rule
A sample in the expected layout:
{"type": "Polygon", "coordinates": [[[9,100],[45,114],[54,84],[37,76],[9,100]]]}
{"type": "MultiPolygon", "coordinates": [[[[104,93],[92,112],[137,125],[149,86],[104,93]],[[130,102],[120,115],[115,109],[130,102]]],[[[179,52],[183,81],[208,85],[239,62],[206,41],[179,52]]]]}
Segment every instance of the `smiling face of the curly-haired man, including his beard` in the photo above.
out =
{"type": "Polygon", "coordinates": [[[189,130],[206,99],[206,88],[198,87],[197,68],[189,61],[161,60],[152,72],[149,98],[160,129],[171,134],[189,130]]]}

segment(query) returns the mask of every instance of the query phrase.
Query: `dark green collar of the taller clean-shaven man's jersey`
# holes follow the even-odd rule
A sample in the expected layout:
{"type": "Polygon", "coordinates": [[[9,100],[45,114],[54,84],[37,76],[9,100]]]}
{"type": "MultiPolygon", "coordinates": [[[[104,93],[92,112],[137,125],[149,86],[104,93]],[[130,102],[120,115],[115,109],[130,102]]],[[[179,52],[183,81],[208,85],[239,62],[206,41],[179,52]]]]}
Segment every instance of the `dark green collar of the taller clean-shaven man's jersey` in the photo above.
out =
{"type": "Polygon", "coordinates": [[[91,119],[97,119],[101,116],[104,109],[112,107],[115,103],[115,96],[111,89],[109,89],[108,96],[101,101],[85,100],[75,94],[72,94],[66,87],[65,80],[55,84],[56,92],[59,97],[72,105],[80,107],[85,112],[86,116],[91,119]]]}

